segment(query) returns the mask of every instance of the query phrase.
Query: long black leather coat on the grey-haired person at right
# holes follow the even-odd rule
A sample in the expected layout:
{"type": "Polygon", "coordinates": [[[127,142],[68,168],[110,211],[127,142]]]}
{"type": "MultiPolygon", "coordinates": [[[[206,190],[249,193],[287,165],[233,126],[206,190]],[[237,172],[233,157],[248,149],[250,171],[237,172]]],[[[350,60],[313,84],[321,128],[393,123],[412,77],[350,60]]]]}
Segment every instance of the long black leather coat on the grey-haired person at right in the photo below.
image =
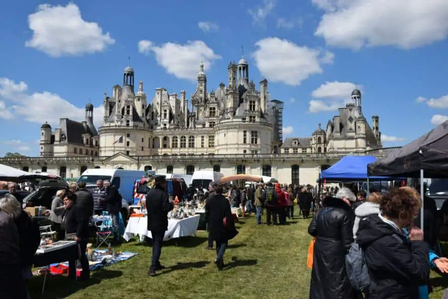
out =
{"type": "Polygon", "coordinates": [[[310,299],[359,298],[348,281],[345,255],[353,243],[353,211],[342,199],[328,197],[308,233],[316,237],[310,299]]]}

